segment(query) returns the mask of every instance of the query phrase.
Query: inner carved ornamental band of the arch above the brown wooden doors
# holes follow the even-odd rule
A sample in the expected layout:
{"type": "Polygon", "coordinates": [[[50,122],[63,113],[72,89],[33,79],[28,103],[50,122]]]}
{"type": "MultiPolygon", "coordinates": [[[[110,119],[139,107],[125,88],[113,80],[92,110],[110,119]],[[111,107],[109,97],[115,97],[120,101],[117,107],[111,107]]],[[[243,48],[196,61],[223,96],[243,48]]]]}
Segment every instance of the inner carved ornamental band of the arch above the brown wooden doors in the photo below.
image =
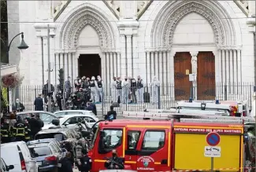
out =
{"type": "Polygon", "coordinates": [[[164,27],[165,29],[163,31],[163,34],[161,35],[163,46],[171,46],[173,44],[173,34],[177,24],[181,19],[184,18],[184,16],[187,16],[187,14],[189,13],[198,13],[204,16],[213,28],[216,44],[224,44],[224,29],[221,26],[221,23],[218,20],[216,14],[202,4],[191,2],[186,5],[182,5],[180,8],[174,10],[173,14],[170,15],[172,19],[167,22],[164,27]]]}

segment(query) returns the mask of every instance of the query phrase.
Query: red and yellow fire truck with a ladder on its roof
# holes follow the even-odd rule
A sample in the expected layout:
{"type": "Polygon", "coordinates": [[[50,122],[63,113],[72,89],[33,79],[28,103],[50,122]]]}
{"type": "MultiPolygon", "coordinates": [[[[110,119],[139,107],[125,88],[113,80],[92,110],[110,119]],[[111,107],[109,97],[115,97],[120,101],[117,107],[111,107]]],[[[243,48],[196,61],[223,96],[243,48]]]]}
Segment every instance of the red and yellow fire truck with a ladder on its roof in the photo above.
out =
{"type": "Polygon", "coordinates": [[[113,149],[124,158],[126,170],[210,170],[210,158],[204,152],[211,132],[221,138],[217,145],[221,157],[214,159],[214,169],[243,171],[243,123],[254,119],[158,112],[124,112],[124,116],[151,119],[99,123],[88,152],[92,172],[106,169],[106,157],[112,156],[113,149]]]}

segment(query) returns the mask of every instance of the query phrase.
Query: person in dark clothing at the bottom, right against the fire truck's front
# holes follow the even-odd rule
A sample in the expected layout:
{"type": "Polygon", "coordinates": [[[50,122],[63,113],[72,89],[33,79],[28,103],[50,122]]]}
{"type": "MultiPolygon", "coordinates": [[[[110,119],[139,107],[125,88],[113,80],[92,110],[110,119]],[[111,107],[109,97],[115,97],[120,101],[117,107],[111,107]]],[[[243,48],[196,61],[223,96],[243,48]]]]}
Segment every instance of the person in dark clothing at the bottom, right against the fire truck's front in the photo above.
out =
{"type": "Polygon", "coordinates": [[[82,157],[77,159],[76,166],[81,172],[88,172],[91,170],[91,158],[87,155],[87,150],[82,150],[82,157]]]}

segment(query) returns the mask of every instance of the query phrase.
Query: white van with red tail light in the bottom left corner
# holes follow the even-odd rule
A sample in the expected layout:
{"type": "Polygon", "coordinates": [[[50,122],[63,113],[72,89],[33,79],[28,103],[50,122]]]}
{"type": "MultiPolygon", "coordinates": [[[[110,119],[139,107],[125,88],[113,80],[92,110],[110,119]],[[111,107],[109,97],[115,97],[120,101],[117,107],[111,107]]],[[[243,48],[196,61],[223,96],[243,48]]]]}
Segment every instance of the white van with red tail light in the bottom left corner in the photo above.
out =
{"type": "Polygon", "coordinates": [[[1,158],[14,168],[9,172],[38,172],[38,165],[24,141],[1,144],[1,158]]]}

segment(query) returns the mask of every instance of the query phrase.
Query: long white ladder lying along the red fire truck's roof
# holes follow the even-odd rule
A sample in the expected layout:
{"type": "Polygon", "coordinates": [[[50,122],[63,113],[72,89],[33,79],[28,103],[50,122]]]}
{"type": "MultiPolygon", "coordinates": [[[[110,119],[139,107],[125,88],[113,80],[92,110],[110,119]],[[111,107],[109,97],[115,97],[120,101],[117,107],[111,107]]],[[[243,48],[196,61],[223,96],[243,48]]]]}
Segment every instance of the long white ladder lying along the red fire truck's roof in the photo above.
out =
{"type": "Polygon", "coordinates": [[[233,117],[222,115],[181,114],[176,112],[123,112],[124,117],[137,119],[179,119],[182,123],[255,123],[252,117],[233,117]]]}

